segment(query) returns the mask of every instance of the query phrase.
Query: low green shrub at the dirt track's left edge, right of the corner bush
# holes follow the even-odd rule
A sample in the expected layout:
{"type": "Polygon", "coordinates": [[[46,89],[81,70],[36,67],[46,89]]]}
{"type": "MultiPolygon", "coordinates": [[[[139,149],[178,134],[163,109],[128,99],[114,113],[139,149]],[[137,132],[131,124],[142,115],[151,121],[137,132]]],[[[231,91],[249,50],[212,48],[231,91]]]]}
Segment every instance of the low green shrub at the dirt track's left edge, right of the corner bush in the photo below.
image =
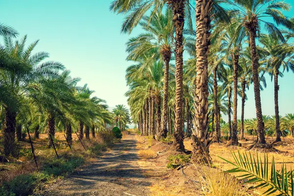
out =
{"type": "Polygon", "coordinates": [[[48,175],[58,176],[72,173],[75,168],[81,166],[84,159],[78,156],[72,156],[68,160],[64,158],[46,161],[43,164],[42,171],[48,175]]]}

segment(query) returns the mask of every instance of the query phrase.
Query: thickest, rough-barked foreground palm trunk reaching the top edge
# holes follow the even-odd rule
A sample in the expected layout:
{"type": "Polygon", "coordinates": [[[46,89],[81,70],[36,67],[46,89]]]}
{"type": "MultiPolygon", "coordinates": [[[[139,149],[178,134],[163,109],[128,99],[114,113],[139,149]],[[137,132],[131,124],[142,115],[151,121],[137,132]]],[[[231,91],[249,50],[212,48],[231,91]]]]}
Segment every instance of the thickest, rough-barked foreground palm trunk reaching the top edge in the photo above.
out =
{"type": "Polygon", "coordinates": [[[210,45],[212,0],[196,0],[196,89],[195,118],[193,131],[193,160],[210,164],[209,146],[211,144],[208,132],[208,52],[210,45]]]}

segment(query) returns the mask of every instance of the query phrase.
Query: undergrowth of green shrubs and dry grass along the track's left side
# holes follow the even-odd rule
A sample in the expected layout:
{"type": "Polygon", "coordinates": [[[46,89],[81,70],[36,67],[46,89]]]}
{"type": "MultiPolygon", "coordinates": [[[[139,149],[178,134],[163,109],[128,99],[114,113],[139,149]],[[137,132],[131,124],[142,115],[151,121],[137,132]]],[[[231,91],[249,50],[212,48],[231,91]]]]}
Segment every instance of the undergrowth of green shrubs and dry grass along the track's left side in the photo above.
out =
{"type": "MultiPolygon", "coordinates": [[[[101,142],[83,140],[86,150],[78,141],[74,143],[72,146],[74,153],[68,147],[58,144],[62,142],[57,141],[59,159],[56,158],[53,149],[40,146],[38,150],[41,151],[37,154],[39,172],[26,172],[15,176],[12,180],[3,181],[0,185],[0,196],[28,196],[40,190],[44,183],[50,183],[73,173],[88,157],[96,157],[101,151],[106,150],[107,145],[115,142],[111,134],[101,133],[99,136],[101,142]]],[[[30,149],[22,149],[21,155],[26,158],[32,157],[30,149]]]]}

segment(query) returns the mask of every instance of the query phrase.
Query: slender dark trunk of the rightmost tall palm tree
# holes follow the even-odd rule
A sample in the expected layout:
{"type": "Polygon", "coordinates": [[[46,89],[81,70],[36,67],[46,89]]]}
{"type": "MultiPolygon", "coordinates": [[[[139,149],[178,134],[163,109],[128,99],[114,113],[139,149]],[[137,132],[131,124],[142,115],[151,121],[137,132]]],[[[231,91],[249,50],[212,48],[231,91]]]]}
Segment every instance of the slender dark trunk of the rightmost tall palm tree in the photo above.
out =
{"type": "Polygon", "coordinates": [[[276,142],[281,141],[282,132],[280,130],[280,116],[279,116],[279,85],[278,85],[279,71],[276,70],[274,73],[274,114],[275,114],[275,131],[276,131],[276,142]]]}

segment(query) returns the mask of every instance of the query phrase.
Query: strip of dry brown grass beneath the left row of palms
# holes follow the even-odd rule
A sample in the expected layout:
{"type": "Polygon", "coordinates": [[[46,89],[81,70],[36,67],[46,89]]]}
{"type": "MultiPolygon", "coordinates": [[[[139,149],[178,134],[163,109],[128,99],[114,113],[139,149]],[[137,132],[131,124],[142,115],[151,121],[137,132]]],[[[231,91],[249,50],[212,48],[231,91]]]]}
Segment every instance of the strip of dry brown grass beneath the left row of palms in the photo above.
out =
{"type": "MultiPolygon", "coordinates": [[[[38,168],[42,168],[44,162],[57,159],[53,148],[47,147],[47,134],[40,134],[39,139],[32,139],[35,154],[37,158],[38,168]]],[[[73,152],[69,148],[63,133],[55,133],[55,147],[60,157],[80,156],[86,163],[93,161],[101,151],[105,150],[110,141],[105,141],[99,135],[90,140],[83,141],[86,150],[79,142],[77,136],[73,134],[73,152]]],[[[20,156],[18,159],[8,157],[8,162],[0,162],[0,185],[3,181],[11,181],[16,176],[36,172],[37,168],[31,154],[31,146],[28,140],[19,142],[21,145],[20,156]]]]}

